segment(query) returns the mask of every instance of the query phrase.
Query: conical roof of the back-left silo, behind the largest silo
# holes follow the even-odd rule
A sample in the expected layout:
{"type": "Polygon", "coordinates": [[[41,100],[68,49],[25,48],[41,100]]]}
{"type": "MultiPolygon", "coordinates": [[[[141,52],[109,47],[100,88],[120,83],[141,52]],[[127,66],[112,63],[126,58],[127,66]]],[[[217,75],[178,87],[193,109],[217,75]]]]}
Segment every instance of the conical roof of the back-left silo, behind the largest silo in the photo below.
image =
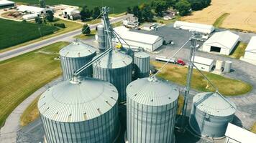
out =
{"type": "Polygon", "coordinates": [[[96,53],[96,49],[94,49],[93,46],[84,44],[81,41],[73,41],[68,46],[60,49],[60,56],[65,56],[69,58],[89,56],[94,53],[96,53]]]}

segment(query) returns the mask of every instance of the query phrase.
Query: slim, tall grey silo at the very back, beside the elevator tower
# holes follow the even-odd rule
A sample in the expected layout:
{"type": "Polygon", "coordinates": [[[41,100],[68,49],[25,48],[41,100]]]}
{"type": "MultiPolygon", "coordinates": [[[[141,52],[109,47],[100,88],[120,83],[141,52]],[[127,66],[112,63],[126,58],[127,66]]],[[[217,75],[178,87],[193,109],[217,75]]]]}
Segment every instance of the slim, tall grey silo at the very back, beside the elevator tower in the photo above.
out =
{"type": "Polygon", "coordinates": [[[105,34],[104,34],[104,26],[99,24],[97,26],[97,34],[98,34],[98,43],[99,43],[99,51],[105,51],[105,34]]]}

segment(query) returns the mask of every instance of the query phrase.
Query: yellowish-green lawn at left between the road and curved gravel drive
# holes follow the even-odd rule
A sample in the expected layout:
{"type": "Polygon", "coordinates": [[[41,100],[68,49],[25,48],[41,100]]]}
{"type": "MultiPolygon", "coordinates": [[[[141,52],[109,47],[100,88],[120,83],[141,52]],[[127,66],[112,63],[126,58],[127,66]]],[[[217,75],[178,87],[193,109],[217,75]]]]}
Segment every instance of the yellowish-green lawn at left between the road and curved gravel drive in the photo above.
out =
{"type": "Polygon", "coordinates": [[[54,58],[67,44],[58,42],[0,62],[0,126],[24,99],[60,76],[60,61],[54,58]]]}

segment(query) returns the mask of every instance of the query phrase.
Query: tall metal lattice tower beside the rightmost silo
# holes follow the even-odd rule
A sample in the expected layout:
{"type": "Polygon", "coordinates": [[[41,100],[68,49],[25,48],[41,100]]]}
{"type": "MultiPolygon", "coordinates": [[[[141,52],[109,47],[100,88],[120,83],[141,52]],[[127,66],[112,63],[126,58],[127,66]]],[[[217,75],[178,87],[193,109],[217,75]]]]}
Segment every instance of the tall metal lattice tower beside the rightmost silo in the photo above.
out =
{"type": "Polygon", "coordinates": [[[185,129],[185,126],[186,126],[186,112],[187,112],[187,106],[188,106],[188,96],[189,96],[189,91],[191,89],[191,79],[193,76],[193,61],[195,58],[196,44],[197,44],[198,39],[199,39],[198,33],[193,32],[193,36],[191,36],[191,47],[190,47],[191,50],[190,50],[189,59],[188,59],[188,74],[187,74],[187,81],[186,81],[185,95],[184,95],[184,102],[183,102],[183,110],[182,110],[182,122],[181,122],[182,129],[185,129]]]}

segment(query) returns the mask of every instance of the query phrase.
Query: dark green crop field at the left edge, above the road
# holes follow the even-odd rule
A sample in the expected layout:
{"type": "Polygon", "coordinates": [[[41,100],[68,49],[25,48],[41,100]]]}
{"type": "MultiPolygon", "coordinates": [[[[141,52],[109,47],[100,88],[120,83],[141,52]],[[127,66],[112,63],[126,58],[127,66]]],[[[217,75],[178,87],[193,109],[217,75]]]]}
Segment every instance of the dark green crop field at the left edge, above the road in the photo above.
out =
{"type": "Polygon", "coordinates": [[[0,49],[58,31],[55,26],[0,19],[0,49]],[[40,30],[39,30],[40,29],[40,30]],[[40,34],[41,32],[41,34],[40,34]]]}

